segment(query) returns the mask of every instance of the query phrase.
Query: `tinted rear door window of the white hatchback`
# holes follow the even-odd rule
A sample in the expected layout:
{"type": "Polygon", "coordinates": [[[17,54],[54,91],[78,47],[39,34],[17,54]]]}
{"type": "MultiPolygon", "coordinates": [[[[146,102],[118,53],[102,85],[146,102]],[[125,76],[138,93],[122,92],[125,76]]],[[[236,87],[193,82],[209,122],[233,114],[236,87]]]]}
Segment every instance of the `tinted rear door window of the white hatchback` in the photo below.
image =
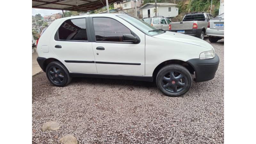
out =
{"type": "Polygon", "coordinates": [[[66,20],[59,30],[60,40],[82,40],[87,41],[85,18],[66,20]]]}

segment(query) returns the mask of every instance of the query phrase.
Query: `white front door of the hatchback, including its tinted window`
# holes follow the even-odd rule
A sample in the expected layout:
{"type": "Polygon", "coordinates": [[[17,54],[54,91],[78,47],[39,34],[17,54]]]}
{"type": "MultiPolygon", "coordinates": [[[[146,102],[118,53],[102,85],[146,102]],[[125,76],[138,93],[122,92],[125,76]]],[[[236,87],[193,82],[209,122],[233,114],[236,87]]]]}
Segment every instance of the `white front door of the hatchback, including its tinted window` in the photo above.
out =
{"type": "Polygon", "coordinates": [[[124,42],[124,34],[136,34],[121,22],[108,17],[92,20],[95,35],[92,49],[98,73],[144,76],[145,34],[139,35],[139,44],[124,42]]]}

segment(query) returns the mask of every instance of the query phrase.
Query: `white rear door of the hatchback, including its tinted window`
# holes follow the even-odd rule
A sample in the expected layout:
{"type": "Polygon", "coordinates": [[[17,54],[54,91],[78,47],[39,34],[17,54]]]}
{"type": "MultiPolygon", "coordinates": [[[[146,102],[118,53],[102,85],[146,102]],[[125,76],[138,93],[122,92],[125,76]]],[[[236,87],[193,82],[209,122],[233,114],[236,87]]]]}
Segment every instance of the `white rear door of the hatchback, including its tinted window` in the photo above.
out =
{"type": "Polygon", "coordinates": [[[73,73],[97,73],[92,42],[87,39],[86,20],[66,20],[52,36],[53,52],[73,73]]]}

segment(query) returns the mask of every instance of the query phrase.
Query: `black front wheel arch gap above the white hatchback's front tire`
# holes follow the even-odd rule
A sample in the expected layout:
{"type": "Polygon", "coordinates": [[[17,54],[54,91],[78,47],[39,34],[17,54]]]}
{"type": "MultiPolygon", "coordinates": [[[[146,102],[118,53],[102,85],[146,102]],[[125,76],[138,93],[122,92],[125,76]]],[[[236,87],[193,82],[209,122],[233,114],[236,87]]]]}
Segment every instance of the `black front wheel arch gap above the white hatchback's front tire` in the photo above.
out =
{"type": "Polygon", "coordinates": [[[160,63],[153,71],[153,78],[155,79],[156,78],[156,75],[158,73],[158,71],[163,68],[164,66],[166,65],[169,65],[169,64],[179,64],[179,65],[182,65],[184,66],[185,68],[188,69],[188,71],[190,72],[190,74],[194,74],[195,72],[195,69],[193,68],[193,66],[191,64],[189,64],[188,62],[186,61],[183,61],[183,60],[166,60],[162,63],[160,63]]]}

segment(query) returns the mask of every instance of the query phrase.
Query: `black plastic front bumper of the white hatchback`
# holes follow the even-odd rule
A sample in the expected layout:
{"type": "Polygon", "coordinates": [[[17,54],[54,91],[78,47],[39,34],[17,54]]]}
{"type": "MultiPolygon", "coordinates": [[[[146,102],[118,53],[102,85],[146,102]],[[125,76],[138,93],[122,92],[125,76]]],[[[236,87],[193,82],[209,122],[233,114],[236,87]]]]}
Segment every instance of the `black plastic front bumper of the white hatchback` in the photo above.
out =
{"type": "Polygon", "coordinates": [[[195,82],[204,82],[214,78],[219,67],[219,56],[215,54],[213,59],[191,59],[187,61],[196,71],[195,82]]]}

